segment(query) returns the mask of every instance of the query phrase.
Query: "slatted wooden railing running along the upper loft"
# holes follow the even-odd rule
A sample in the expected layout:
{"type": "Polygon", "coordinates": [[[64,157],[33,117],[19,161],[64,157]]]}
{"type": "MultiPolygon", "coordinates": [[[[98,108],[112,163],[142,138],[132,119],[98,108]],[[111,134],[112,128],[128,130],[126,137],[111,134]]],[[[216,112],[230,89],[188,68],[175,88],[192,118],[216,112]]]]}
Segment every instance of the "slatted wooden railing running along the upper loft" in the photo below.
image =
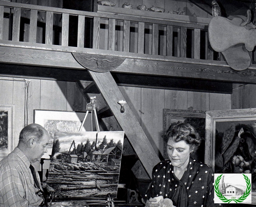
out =
{"type": "Polygon", "coordinates": [[[30,42],[35,47],[37,44],[59,45],[65,46],[65,50],[72,46],[138,55],[223,60],[208,42],[210,19],[167,13],[159,15],[163,15],[163,18],[0,1],[0,42],[30,42]]]}

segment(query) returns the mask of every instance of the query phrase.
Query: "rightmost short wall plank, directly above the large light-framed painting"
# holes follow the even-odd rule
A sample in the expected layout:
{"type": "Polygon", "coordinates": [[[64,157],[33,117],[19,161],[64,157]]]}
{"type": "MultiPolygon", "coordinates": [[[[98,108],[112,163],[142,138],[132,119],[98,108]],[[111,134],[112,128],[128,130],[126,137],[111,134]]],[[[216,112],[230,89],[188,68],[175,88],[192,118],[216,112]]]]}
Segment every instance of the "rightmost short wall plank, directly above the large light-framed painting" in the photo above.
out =
{"type": "Polygon", "coordinates": [[[231,109],[231,95],[210,93],[210,110],[231,109]]]}

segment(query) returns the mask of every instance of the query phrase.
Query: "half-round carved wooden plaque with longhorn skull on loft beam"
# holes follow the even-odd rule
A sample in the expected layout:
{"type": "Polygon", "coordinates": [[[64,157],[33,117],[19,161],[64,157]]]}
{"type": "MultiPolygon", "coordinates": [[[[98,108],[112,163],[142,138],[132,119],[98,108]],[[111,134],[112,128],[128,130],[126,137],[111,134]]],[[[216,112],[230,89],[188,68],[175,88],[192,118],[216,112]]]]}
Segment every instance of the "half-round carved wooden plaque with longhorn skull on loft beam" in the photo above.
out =
{"type": "Polygon", "coordinates": [[[107,72],[116,69],[124,61],[125,57],[112,57],[107,55],[92,55],[72,52],[75,60],[88,70],[95,72],[107,72]]]}

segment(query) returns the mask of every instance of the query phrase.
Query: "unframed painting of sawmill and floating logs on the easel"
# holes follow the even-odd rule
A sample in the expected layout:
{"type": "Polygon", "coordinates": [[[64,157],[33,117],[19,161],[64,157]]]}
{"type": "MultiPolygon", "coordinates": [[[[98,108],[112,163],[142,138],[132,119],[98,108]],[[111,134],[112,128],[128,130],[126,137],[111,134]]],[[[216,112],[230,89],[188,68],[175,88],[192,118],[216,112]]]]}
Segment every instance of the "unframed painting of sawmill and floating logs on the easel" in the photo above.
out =
{"type": "Polygon", "coordinates": [[[55,132],[47,184],[60,196],[116,197],[124,131],[55,132]]]}

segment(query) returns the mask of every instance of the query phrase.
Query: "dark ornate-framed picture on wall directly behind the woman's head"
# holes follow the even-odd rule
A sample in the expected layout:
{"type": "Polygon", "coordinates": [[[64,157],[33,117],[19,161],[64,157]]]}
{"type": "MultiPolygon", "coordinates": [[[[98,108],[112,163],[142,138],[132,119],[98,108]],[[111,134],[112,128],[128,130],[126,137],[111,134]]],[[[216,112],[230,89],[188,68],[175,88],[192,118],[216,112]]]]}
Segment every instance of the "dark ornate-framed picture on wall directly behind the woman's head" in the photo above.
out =
{"type": "MultiPolygon", "coordinates": [[[[191,154],[194,159],[204,162],[205,153],[205,111],[200,110],[182,110],[182,109],[163,109],[163,138],[164,133],[170,124],[184,122],[195,127],[196,131],[202,138],[201,145],[191,154]]],[[[167,141],[163,139],[163,157],[168,159],[167,141]]]]}

